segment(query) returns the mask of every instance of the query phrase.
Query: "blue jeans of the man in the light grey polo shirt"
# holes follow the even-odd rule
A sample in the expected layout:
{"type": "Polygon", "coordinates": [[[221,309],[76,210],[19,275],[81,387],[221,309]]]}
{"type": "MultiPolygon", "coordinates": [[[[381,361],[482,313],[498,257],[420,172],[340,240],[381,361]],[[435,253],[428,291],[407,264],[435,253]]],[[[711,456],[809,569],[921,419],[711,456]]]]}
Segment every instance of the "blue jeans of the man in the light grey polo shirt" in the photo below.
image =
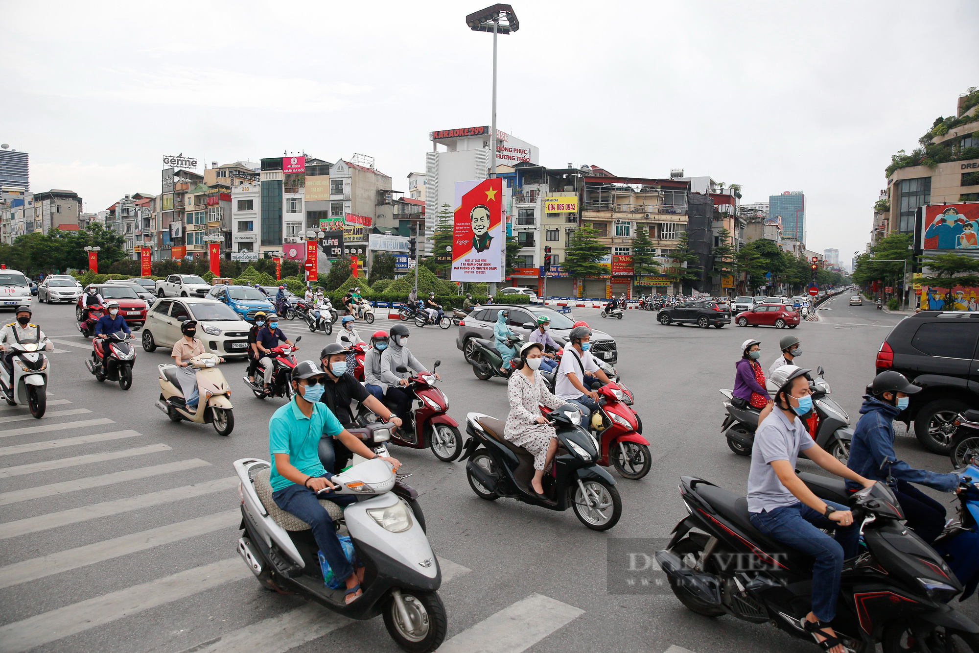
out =
{"type": "MultiPolygon", "coordinates": [[[[850,510],[832,501],[826,504],[837,510],[850,510]]],[[[773,539],[816,558],[813,565],[813,614],[820,622],[831,622],[836,616],[843,561],[857,555],[860,525],[848,527],[826,519],[801,501],[770,511],[751,513],[751,523],[773,539]],[[835,538],[819,528],[833,528],[835,538]]]]}

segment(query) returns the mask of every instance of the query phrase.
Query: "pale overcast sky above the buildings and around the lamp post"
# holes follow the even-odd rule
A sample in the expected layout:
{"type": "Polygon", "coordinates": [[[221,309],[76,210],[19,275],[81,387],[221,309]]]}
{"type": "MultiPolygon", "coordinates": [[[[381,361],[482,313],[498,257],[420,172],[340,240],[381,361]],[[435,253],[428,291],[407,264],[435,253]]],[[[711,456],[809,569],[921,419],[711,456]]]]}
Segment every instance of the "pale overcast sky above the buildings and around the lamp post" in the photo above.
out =
{"type": "MultiPolygon", "coordinates": [[[[164,154],[354,152],[407,190],[433,129],[489,125],[483,2],[0,0],[0,141],[86,211],[159,193],[164,154]]],[[[498,126],[540,163],[806,193],[849,263],[884,168],[979,85],[979,3],[516,0],[498,126]]]]}

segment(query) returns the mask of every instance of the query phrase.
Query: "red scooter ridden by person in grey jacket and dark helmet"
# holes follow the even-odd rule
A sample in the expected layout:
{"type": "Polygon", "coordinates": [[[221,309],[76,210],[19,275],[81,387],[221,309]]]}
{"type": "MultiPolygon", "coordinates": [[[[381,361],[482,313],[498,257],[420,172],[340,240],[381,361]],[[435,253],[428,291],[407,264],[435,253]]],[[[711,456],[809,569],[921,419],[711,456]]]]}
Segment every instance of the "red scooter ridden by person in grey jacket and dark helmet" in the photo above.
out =
{"type": "MultiPolygon", "coordinates": [[[[362,361],[361,361],[362,364],[362,361]]],[[[442,365],[436,361],[433,370],[442,365]]],[[[398,366],[397,372],[407,372],[404,366],[398,366]]],[[[408,379],[407,385],[396,386],[401,392],[411,397],[411,418],[391,435],[390,443],[412,449],[430,447],[439,460],[451,463],[462,453],[462,434],[459,424],[446,415],[448,397],[435,386],[436,377],[431,372],[420,372],[408,379]]],[[[394,408],[385,399],[385,405],[394,408]]],[[[363,427],[377,418],[363,405],[357,414],[357,423],[363,427]]]]}

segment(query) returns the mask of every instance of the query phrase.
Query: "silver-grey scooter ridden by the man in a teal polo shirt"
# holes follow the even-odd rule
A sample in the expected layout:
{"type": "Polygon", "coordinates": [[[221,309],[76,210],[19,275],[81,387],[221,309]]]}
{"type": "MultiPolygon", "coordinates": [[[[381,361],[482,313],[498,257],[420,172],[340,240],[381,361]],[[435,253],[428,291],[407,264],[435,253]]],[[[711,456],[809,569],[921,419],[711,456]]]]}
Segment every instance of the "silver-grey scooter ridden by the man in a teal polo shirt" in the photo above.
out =
{"type": "Polygon", "coordinates": [[[398,493],[399,479],[389,462],[364,461],[331,478],[339,485],[337,494],[355,496],[356,503],[342,509],[320,500],[339,527],[338,534],[350,536],[357,560],[365,567],[363,594],[349,605],[342,589],[324,582],[319,547],[309,526],[272,499],[268,462],[243,458],[235,461],[234,469],[240,481],[243,530],[238,554],[263,587],[295,592],[350,619],[381,615],[388,633],[406,651],[428,653],[442,644],[446,616],[438,593],[439,559],[423,520],[398,493]]]}

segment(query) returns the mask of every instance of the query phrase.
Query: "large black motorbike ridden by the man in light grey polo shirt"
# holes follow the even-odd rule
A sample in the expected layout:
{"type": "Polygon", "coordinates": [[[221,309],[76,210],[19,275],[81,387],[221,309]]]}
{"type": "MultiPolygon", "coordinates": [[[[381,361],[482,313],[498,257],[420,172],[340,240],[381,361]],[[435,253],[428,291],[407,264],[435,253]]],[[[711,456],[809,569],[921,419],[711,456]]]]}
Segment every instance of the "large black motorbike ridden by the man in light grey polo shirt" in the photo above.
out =
{"type": "MultiPolygon", "coordinates": [[[[842,479],[816,478],[844,487],[842,479]]],[[[810,610],[812,558],[757,530],[744,497],[697,477],[680,477],[679,491],[689,515],[655,554],[676,598],[705,617],[769,623],[815,641],[801,623],[810,610]]],[[[979,650],[979,626],[946,605],[961,583],[902,524],[890,488],[874,483],[846,504],[861,525],[862,552],[844,565],[840,582],[833,630],[843,645],[861,653],[878,642],[884,653],[979,650]]]]}

